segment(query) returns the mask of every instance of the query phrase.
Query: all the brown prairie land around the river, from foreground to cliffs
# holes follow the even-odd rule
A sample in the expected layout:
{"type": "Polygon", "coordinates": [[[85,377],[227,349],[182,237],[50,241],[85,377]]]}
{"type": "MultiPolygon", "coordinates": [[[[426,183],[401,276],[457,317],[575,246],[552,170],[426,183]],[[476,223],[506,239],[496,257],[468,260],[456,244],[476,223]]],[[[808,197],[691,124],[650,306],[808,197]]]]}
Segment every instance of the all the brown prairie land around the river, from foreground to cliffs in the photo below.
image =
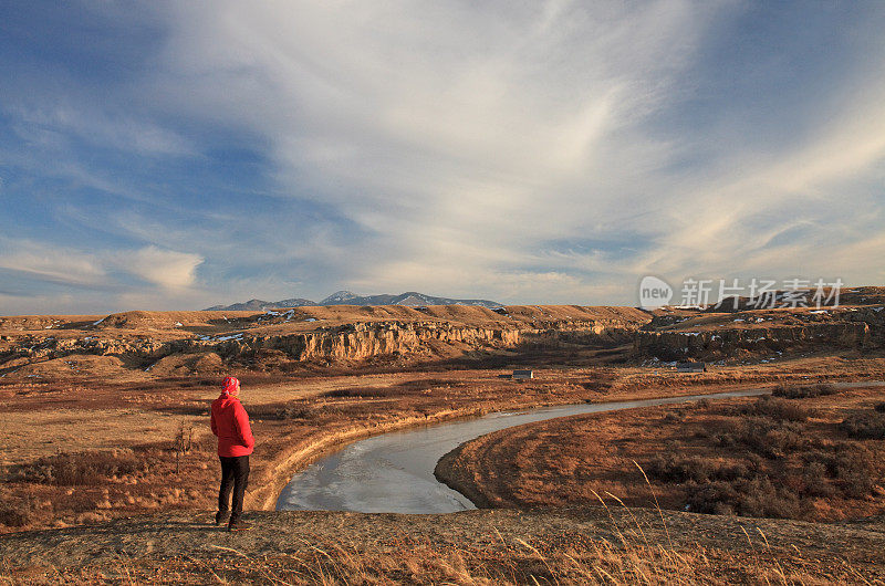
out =
{"type": "MultiPolygon", "coordinates": [[[[315,322],[300,318],[294,329],[285,313],[235,316],[233,325],[212,312],[7,320],[0,576],[293,584],[882,579],[878,329],[858,346],[791,338],[792,345],[747,349],[736,337],[733,347],[705,346],[717,358],[707,372],[685,374],[645,354],[636,342],[641,328],[691,332],[691,321],[700,320],[707,328],[741,329],[731,314],[683,312],[674,325],[669,315],[622,308],[508,308],[507,316],[434,308],[427,325],[428,312],[415,310],[325,310],[313,308],[315,322]],[[61,344],[54,329],[74,342],[61,344]],[[417,346],[409,346],[413,334],[423,339],[417,346]],[[301,344],[299,336],[321,336],[325,346],[316,347],[327,356],[287,346],[301,344]],[[93,337],[100,347],[86,339],[93,337]],[[379,345],[382,338],[402,345],[379,345]],[[38,349],[28,354],[23,344],[38,349]],[[80,354],[88,348],[93,354],[80,354]],[[722,358],[726,350],[735,357],[722,358]],[[517,368],[532,369],[533,378],[510,379],[517,368]],[[225,374],[241,379],[258,439],[248,515],[268,540],[294,532],[310,535],[299,537],[305,542],[285,537],[288,545],[274,551],[207,524],[220,474],[208,409],[225,374]],[[440,461],[437,475],[491,512],[271,512],[295,472],[388,430],[502,410],[745,389],[774,397],[556,419],[462,444],[440,461]],[[374,535],[379,523],[384,530],[374,535]],[[50,553],[56,545],[48,544],[59,540],[70,555],[50,553]],[[95,547],[87,553],[100,543],[102,552],[117,552],[113,561],[95,547]]],[[[777,320],[809,327],[801,312],[777,320]]]]}

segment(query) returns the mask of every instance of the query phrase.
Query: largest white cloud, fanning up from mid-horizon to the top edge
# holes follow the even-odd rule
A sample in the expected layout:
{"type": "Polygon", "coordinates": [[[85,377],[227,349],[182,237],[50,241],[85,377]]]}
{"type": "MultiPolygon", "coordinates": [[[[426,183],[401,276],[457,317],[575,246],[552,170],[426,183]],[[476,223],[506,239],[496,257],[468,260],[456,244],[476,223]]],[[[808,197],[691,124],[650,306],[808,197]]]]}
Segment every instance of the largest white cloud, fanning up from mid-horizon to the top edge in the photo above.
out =
{"type": "Polygon", "coordinates": [[[440,264],[517,270],[621,214],[668,163],[642,124],[685,91],[716,18],[686,2],[197,7],[176,14],[170,69],[268,138],[283,185],[374,236],[347,275],[367,289],[433,286],[440,264]]]}

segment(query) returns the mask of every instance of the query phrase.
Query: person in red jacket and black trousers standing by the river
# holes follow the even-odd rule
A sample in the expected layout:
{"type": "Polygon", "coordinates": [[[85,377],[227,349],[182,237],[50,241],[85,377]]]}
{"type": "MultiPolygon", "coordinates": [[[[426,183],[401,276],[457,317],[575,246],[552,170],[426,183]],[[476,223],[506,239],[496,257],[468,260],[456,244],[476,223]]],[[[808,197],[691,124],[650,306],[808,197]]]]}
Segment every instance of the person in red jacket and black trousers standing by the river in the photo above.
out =
{"type": "Polygon", "coordinates": [[[249,415],[240,402],[240,381],[226,377],[221,395],[212,401],[212,433],[218,436],[218,458],[221,460],[221,489],[218,491],[216,525],[228,522],[229,531],[250,529],[240,521],[242,499],[249,482],[249,454],[256,440],[249,428],[249,415]],[[228,517],[228,502],[233,489],[233,503],[228,517]]]}

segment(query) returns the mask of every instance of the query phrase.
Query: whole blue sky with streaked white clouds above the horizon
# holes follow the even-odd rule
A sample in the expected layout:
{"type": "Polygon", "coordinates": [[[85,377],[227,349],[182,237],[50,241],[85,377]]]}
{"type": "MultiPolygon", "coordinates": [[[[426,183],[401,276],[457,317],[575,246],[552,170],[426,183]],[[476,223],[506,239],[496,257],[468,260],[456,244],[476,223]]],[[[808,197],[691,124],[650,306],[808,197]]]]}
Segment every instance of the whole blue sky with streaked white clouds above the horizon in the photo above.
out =
{"type": "Polygon", "coordinates": [[[885,3],[0,3],[0,314],[885,284],[885,3]]]}

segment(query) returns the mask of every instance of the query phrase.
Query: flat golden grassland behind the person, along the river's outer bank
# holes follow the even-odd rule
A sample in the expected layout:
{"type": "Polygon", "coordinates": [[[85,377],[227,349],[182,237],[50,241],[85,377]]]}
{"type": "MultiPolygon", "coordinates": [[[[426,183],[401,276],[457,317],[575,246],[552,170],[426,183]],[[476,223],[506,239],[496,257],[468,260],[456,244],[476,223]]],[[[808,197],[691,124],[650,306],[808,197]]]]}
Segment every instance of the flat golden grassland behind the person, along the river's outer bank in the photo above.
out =
{"type": "MultiPolygon", "coordinates": [[[[244,374],[259,439],[247,507],[274,507],[292,475],[343,443],[491,411],[715,393],[785,380],[881,378],[879,358],[812,357],[700,375],[638,367],[535,369],[516,383],[497,368],[244,374]]],[[[202,510],[218,470],[208,406],[214,378],[144,383],[33,379],[0,384],[0,533],[103,522],[157,510],[202,510]],[[72,425],[74,422],[74,425],[72,425]]]]}

